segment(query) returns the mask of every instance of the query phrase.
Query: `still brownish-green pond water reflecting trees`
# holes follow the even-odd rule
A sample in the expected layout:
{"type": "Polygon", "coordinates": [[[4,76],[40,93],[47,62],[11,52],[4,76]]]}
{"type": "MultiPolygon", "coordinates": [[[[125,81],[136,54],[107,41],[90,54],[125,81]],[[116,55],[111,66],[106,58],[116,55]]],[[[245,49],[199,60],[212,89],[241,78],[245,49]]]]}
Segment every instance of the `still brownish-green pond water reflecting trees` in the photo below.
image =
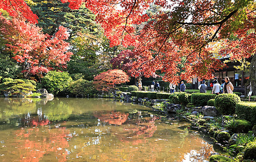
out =
{"type": "Polygon", "coordinates": [[[0,98],[0,161],[204,162],[190,123],[109,99],[0,98]]]}

